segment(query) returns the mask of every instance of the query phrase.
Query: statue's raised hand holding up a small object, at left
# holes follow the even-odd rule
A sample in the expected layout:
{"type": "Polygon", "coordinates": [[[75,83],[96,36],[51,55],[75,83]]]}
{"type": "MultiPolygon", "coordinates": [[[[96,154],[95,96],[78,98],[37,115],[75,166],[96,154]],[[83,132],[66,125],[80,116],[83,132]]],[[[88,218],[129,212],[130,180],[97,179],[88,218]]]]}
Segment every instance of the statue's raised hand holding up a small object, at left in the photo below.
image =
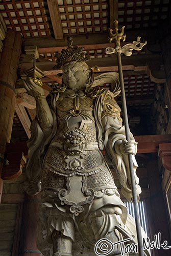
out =
{"type": "Polygon", "coordinates": [[[29,95],[33,96],[34,98],[44,95],[43,88],[41,87],[42,82],[40,79],[27,77],[23,80],[23,82],[29,95]]]}

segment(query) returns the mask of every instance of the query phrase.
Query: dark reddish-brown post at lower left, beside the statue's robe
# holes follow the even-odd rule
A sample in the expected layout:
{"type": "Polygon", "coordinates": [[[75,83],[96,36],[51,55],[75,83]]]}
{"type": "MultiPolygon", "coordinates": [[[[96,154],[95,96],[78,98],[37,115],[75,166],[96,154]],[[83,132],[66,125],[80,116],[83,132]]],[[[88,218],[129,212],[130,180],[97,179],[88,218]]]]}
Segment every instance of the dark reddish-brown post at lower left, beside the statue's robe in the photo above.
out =
{"type": "Polygon", "coordinates": [[[37,196],[25,196],[18,256],[42,255],[36,245],[36,228],[40,203],[40,194],[37,196]]]}

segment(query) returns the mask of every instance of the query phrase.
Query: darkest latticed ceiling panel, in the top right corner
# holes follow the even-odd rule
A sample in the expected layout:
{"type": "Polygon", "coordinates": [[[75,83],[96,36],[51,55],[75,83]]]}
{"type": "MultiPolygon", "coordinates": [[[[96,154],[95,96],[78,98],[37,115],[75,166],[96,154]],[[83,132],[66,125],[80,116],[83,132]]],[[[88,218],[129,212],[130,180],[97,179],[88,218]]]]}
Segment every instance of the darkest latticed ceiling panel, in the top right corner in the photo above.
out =
{"type": "Polygon", "coordinates": [[[118,22],[126,29],[154,27],[168,15],[170,0],[120,0],[118,22]]]}

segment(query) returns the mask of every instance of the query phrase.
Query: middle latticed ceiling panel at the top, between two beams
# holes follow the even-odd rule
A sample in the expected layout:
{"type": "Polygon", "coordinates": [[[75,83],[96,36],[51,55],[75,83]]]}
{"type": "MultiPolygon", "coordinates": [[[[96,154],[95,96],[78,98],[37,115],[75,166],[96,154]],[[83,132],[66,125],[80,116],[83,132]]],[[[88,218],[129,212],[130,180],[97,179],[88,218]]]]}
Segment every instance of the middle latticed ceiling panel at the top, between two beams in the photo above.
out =
{"type": "Polygon", "coordinates": [[[106,32],[107,0],[58,0],[64,35],[106,32]]]}

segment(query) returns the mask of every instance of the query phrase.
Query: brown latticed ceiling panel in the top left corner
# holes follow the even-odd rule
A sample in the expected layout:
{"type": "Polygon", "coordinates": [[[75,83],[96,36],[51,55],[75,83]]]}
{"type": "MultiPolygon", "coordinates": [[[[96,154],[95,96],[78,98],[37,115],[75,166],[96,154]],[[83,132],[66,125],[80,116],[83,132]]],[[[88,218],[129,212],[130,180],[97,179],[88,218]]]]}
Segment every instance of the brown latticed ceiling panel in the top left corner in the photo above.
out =
{"type": "Polygon", "coordinates": [[[7,27],[20,32],[23,37],[51,35],[48,9],[42,0],[2,0],[0,12],[7,27]]]}

